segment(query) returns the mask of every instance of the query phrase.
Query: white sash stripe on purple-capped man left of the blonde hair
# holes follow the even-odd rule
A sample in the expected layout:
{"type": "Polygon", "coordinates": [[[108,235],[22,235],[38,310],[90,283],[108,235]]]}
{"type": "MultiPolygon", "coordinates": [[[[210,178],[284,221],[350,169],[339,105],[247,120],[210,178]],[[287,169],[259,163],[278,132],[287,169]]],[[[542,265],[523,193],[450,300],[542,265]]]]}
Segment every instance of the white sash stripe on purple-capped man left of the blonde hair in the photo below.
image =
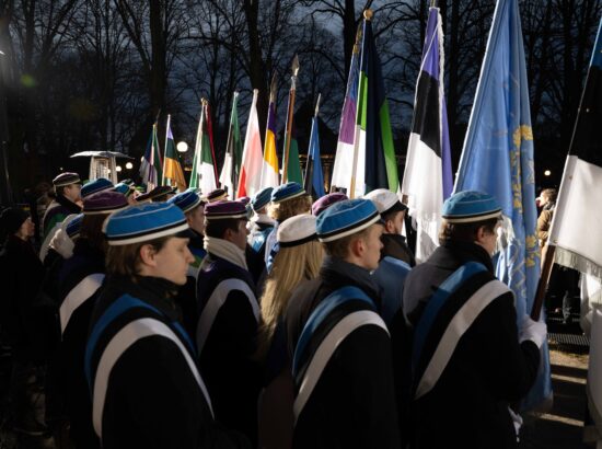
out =
{"type": "Polygon", "coordinates": [[[257,304],[255,293],[253,292],[253,290],[251,290],[248,284],[246,284],[242,279],[236,278],[222,280],[218,284],[218,286],[207,300],[207,303],[205,304],[205,308],[202,309],[202,312],[200,313],[200,318],[198,320],[197,349],[199,356],[202,353],[202,348],[205,346],[205,343],[207,342],[207,337],[209,336],[209,332],[211,331],[213,321],[216,321],[216,316],[218,315],[220,308],[223,306],[225,299],[228,298],[228,295],[232,290],[240,290],[246,295],[246,297],[248,298],[248,302],[253,308],[255,320],[259,322],[259,304],[257,304]]]}

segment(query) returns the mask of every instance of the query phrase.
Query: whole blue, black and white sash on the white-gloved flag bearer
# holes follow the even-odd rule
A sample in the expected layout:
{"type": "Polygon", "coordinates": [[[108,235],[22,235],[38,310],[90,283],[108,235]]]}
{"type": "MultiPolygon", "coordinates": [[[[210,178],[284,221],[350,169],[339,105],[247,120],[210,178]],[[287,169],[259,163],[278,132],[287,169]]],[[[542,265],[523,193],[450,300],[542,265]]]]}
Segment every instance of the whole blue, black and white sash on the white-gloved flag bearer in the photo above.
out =
{"type": "Polygon", "coordinates": [[[476,318],[499,296],[511,291],[505,284],[498,279],[491,279],[481,285],[473,295],[465,301],[456,304],[449,304],[449,299],[466,281],[479,274],[487,273],[487,268],[479,263],[468,262],[458,268],[429,300],[418,325],[416,326],[413,367],[415,376],[415,399],[419,399],[428,393],[437,383],[451,359],[460,338],[471,327],[476,318]],[[445,309],[448,307],[448,309],[445,309]],[[439,336],[433,334],[433,324],[440,319],[442,311],[450,313],[449,308],[453,309],[453,315],[450,316],[442,333],[439,336]],[[425,352],[426,341],[428,338],[439,338],[428,354],[425,352]]]}

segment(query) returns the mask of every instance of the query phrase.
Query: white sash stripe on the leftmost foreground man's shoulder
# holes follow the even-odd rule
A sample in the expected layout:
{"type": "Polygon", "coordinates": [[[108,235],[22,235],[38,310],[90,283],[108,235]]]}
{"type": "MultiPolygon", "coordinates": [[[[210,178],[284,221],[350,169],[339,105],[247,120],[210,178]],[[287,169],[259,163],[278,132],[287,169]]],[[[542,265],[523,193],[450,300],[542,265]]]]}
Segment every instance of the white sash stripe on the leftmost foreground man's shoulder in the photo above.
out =
{"type": "Polygon", "coordinates": [[[184,347],[182,341],[175,335],[175,333],[165,324],[159,320],[152,318],[143,318],[140,320],[132,321],[124,326],[106,345],[99,366],[96,368],[96,376],[94,377],[94,390],[92,394],[92,423],[94,424],[94,430],[96,435],[102,439],[102,425],[103,425],[103,410],[106,398],[106,390],[108,388],[108,378],[113,367],[121,356],[131,345],[134,345],[139,339],[149,336],[160,335],[165,338],[171,339],[175,343],[186,359],[190,372],[195,377],[207,405],[213,415],[213,407],[211,406],[211,400],[209,393],[202,379],[197,370],[195,361],[190,357],[188,350],[184,347]]]}

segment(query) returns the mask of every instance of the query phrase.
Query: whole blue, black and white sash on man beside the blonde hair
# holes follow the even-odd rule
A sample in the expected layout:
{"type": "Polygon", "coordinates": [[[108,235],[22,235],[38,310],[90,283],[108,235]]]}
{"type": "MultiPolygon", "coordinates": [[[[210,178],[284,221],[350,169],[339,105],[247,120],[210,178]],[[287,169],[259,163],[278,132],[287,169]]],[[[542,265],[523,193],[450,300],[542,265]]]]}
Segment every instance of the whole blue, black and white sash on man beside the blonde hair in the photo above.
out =
{"type": "Polygon", "coordinates": [[[294,349],[292,375],[298,387],[298,394],[293,404],[296,423],[308,400],[310,399],[313,389],[317,384],[324,368],[338,346],[356,329],[370,324],[382,327],[386,333],[389,333],[386,325],[374,311],[374,303],[358,287],[348,286],[339,288],[324,298],[315,308],[303,326],[303,331],[301,332],[301,336],[299,337],[299,342],[297,343],[297,347],[294,349]],[[316,343],[312,342],[315,336],[315,331],[326,323],[327,318],[335,310],[338,310],[343,304],[348,303],[349,301],[362,301],[371,310],[362,309],[346,314],[343,319],[335,323],[328,333],[322,338],[313,355],[306,354],[309,352],[310,343],[316,343]]]}

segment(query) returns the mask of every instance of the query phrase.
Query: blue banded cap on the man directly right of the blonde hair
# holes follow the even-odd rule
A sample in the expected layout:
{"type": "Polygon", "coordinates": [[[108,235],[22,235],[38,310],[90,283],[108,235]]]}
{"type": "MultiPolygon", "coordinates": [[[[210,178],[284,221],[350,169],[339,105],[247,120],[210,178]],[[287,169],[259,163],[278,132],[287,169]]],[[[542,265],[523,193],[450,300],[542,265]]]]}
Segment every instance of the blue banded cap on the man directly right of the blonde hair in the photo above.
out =
{"type": "Polygon", "coordinates": [[[382,222],[381,215],[370,199],[345,199],[317,216],[317,238],[321,242],[332,242],[382,222]]]}

